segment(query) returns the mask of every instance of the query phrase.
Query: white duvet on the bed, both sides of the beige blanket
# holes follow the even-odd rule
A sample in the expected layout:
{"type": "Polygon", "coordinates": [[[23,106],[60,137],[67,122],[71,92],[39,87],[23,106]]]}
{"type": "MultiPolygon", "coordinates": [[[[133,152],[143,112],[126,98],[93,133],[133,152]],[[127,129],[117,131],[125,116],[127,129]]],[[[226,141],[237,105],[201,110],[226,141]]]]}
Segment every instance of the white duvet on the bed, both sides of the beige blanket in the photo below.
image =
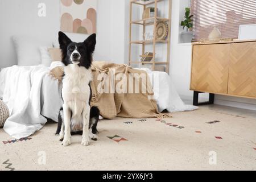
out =
{"type": "MultiPolygon", "coordinates": [[[[58,121],[59,109],[62,105],[61,84],[49,75],[50,68],[44,65],[31,67],[13,66],[0,72],[0,98],[10,110],[10,117],[3,129],[16,139],[28,137],[42,129],[47,118],[58,121]]],[[[185,105],[177,94],[170,77],[164,72],[158,74],[160,84],[152,83],[159,111],[167,109],[185,111],[197,109],[185,105]]]]}

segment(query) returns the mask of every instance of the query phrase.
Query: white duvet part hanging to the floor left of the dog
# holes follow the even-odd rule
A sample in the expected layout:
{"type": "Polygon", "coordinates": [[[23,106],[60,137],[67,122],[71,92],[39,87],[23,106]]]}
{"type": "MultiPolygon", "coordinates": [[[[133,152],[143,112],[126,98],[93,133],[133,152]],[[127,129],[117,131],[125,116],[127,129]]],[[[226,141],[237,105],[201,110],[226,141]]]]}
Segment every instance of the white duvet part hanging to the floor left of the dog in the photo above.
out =
{"type": "Polygon", "coordinates": [[[13,66],[0,72],[0,98],[10,110],[3,129],[11,137],[35,133],[47,122],[45,117],[57,121],[61,86],[48,75],[49,70],[43,65],[13,66]]]}

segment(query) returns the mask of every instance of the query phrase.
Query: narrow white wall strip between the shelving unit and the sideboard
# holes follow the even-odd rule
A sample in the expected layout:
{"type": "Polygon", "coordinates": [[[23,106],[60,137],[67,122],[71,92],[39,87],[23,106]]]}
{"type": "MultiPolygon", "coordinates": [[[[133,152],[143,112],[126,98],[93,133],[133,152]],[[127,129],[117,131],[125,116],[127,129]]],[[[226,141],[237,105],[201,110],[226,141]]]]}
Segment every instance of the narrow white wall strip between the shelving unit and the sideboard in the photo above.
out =
{"type": "MultiPolygon", "coordinates": [[[[186,1],[188,3],[188,1],[186,1]]],[[[191,99],[193,92],[189,91],[191,73],[191,45],[179,44],[179,36],[182,28],[180,19],[183,17],[182,11],[188,6],[183,0],[172,1],[172,27],[171,27],[171,60],[170,76],[176,86],[177,91],[186,99],[191,99]],[[181,5],[182,3],[182,5],[181,5]],[[181,5],[181,6],[180,6],[181,5]]]]}

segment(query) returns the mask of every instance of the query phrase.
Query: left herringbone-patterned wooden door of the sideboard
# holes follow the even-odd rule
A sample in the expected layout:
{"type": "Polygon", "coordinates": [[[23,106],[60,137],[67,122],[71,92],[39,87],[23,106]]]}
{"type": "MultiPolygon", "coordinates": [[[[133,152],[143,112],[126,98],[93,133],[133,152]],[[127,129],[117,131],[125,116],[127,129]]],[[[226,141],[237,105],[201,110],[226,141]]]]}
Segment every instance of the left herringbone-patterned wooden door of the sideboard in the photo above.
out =
{"type": "Polygon", "coordinates": [[[230,44],[193,46],[191,90],[228,93],[230,44]]]}

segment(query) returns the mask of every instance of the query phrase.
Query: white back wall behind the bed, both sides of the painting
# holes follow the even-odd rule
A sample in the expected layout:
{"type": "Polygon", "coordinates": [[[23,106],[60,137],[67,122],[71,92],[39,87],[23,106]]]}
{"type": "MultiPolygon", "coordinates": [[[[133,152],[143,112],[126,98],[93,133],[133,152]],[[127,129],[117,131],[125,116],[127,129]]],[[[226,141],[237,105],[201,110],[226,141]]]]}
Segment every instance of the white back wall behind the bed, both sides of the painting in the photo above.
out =
{"type": "MultiPolygon", "coordinates": [[[[123,63],[125,60],[125,1],[95,0],[97,8],[97,45],[94,60],[123,63]],[[122,45],[122,46],[119,46],[122,45]],[[117,51],[118,50],[118,51],[117,51]]],[[[32,35],[49,44],[57,42],[60,30],[60,0],[0,0],[0,68],[15,65],[11,37],[32,35]],[[38,4],[46,3],[46,17],[38,16],[38,4]]],[[[88,35],[68,34],[74,41],[88,35]]]]}

